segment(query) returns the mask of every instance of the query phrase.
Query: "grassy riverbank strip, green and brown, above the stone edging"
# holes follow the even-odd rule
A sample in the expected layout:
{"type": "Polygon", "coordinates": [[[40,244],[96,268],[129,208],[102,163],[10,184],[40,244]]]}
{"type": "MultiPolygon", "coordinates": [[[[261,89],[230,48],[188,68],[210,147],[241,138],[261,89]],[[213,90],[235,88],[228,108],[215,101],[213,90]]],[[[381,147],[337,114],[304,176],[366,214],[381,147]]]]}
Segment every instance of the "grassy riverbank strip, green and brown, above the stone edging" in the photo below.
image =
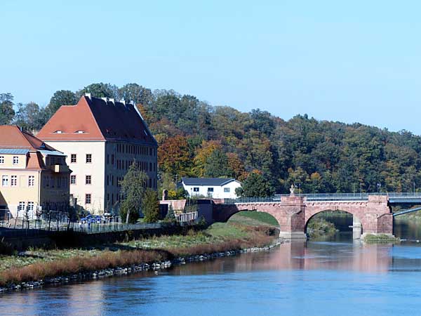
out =
{"type": "Polygon", "coordinates": [[[233,216],[228,223],[215,223],[187,235],[103,244],[92,249],[30,249],[4,255],[0,257],[0,285],[270,244],[274,230],[267,223],[253,220],[250,225],[241,216],[233,216]]]}

